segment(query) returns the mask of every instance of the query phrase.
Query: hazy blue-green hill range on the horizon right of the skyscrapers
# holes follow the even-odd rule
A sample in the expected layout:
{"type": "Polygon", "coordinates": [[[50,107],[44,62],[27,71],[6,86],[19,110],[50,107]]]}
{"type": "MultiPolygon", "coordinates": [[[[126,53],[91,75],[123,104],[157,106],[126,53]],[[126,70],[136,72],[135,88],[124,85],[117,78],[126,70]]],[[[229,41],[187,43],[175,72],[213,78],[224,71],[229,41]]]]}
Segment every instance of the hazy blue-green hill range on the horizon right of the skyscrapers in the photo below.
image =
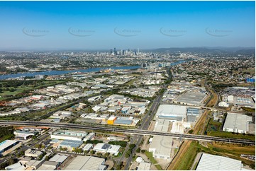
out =
{"type": "Polygon", "coordinates": [[[254,54],[255,47],[170,47],[151,49],[151,52],[195,52],[195,53],[235,53],[254,54]]]}

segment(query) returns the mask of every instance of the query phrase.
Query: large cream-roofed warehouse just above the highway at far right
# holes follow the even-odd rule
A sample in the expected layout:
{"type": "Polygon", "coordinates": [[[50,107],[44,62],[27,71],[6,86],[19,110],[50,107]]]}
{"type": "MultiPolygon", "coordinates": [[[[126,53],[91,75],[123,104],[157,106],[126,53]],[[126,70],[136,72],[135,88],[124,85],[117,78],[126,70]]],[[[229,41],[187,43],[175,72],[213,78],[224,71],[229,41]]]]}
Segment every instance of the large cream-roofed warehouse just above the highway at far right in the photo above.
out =
{"type": "Polygon", "coordinates": [[[223,131],[246,134],[249,131],[249,122],[252,122],[252,117],[245,114],[228,113],[223,126],[223,131]]]}

